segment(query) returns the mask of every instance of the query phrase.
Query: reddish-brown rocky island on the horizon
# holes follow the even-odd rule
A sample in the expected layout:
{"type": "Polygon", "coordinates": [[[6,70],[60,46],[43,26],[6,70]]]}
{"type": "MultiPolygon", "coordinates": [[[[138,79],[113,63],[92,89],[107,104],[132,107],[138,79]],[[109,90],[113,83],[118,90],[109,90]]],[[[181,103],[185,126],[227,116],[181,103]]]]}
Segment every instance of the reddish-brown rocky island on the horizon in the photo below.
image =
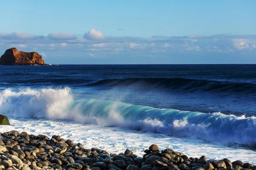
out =
{"type": "Polygon", "coordinates": [[[15,47],[6,50],[0,58],[0,65],[46,65],[36,52],[18,51],[15,47]]]}

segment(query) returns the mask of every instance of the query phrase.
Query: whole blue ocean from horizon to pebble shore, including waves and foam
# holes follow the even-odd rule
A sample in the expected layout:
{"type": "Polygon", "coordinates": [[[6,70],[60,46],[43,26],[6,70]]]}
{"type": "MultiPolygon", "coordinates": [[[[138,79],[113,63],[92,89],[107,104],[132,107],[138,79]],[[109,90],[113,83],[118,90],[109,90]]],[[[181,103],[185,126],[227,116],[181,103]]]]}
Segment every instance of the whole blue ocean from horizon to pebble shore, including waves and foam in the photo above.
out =
{"type": "Polygon", "coordinates": [[[256,65],[0,65],[0,114],[0,132],[256,163],[256,65]]]}

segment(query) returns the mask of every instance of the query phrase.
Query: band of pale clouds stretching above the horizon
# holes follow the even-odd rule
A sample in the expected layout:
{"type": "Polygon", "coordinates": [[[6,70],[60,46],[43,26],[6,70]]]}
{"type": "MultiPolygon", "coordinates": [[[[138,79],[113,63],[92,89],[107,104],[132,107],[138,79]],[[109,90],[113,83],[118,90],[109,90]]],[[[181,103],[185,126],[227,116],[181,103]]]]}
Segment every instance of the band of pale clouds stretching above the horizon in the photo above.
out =
{"type": "MultiPolygon", "coordinates": [[[[112,37],[94,28],[83,35],[70,33],[49,33],[33,35],[24,32],[0,32],[0,51],[15,46],[21,51],[37,51],[55,62],[56,57],[75,58],[87,63],[194,63],[201,61],[214,63],[215,58],[227,56],[230,63],[256,63],[256,35],[218,34],[218,35],[185,35],[185,36],[151,36],[145,37],[112,37]],[[185,57],[185,58],[184,58],[185,57]],[[189,57],[186,59],[186,57],[189,57]],[[215,58],[214,58],[215,57],[215,58]],[[126,58],[125,62],[122,58],[126,58]],[[129,62],[127,59],[131,59],[129,62]],[[159,62],[159,58],[163,59],[159,62]],[[180,58],[180,59],[179,59],[180,58]],[[101,60],[103,59],[103,60],[101,60]],[[133,61],[134,59],[138,59],[133,61]],[[185,59],[185,60],[184,60],[185,59]],[[150,61],[150,62],[149,62],[150,61]],[[158,62],[157,62],[158,61],[158,62]],[[245,61],[245,62],[243,62],[245,61]]],[[[2,52],[2,53],[3,53],[2,52]]],[[[220,60],[221,62],[221,60],[220,60]]],[[[224,62],[224,60],[222,60],[224,62]]],[[[227,61],[226,61],[227,62],[227,61]]],[[[166,63],[166,64],[169,64],[166,63]]],[[[203,63],[203,62],[202,62],[203,63]]],[[[218,63],[216,60],[215,63],[218,63]]],[[[79,64],[79,63],[78,63],[79,64]]]]}

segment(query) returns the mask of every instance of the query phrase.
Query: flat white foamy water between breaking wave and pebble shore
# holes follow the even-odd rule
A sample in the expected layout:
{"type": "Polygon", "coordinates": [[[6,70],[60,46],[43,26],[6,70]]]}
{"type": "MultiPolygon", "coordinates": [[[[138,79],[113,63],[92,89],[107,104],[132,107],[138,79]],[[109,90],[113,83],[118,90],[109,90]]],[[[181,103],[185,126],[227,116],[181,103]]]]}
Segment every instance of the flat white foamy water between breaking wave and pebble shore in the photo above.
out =
{"type": "Polygon", "coordinates": [[[84,147],[98,147],[109,153],[123,153],[125,149],[132,150],[138,156],[151,144],[157,144],[160,149],[172,148],[188,156],[207,156],[207,159],[229,158],[231,161],[241,160],[256,164],[256,151],[242,147],[225,147],[217,142],[206,142],[200,139],[175,138],[159,133],[142,133],[119,127],[104,127],[84,123],[65,122],[47,119],[10,119],[12,126],[0,126],[0,132],[17,130],[35,135],[60,135],[84,147]]]}

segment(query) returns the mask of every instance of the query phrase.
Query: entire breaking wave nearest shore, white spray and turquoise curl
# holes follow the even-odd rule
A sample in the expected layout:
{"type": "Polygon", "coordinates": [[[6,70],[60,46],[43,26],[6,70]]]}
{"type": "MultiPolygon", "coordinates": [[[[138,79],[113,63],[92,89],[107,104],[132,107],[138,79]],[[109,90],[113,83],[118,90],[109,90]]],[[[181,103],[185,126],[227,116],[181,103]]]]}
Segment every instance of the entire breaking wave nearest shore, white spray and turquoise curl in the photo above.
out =
{"type": "Polygon", "coordinates": [[[70,88],[0,92],[0,114],[125,127],[228,144],[256,146],[256,117],[158,109],[99,99],[73,99],[70,88]]]}

